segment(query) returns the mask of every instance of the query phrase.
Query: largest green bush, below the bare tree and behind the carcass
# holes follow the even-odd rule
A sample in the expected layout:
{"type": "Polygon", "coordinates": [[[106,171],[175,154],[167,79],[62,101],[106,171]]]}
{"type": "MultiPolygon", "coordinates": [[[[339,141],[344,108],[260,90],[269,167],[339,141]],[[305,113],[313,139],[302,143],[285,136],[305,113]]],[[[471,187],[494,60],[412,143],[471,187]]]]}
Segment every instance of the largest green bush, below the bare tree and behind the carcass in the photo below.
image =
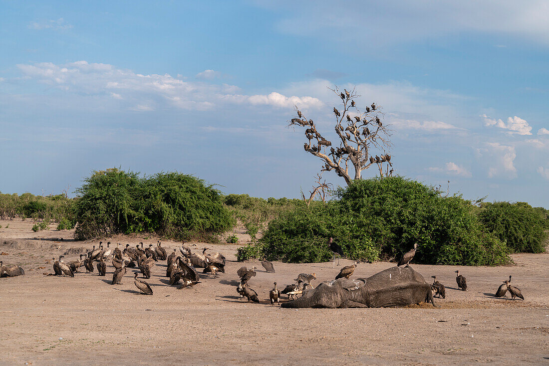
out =
{"type": "Polygon", "coordinates": [[[498,265],[507,248],[486,232],[470,201],[442,198],[432,187],[401,177],[357,181],[337,200],[304,203],[273,219],[259,254],[287,262],[323,262],[333,237],[356,260],[398,259],[418,243],[415,263],[498,265]]]}

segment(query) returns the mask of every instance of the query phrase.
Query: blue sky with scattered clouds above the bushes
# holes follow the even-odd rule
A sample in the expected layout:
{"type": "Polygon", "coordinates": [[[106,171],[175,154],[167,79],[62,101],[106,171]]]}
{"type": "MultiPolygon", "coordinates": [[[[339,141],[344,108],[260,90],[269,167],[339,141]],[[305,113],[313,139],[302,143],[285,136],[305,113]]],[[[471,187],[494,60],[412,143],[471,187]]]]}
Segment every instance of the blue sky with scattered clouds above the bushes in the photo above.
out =
{"type": "Polygon", "coordinates": [[[321,162],[287,122],[334,138],[337,85],[383,107],[396,173],[549,208],[544,1],[0,1],[0,50],[3,193],[121,166],[298,197],[321,162]]]}

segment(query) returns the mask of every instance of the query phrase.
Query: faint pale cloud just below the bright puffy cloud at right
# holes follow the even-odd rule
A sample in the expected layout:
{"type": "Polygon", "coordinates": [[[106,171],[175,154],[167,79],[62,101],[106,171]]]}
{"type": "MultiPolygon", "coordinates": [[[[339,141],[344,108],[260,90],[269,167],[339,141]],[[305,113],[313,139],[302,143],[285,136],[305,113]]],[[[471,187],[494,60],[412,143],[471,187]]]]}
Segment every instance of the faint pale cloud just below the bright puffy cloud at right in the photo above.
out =
{"type": "Polygon", "coordinates": [[[481,161],[488,166],[488,177],[494,178],[503,176],[506,178],[516,178],[517,168],[514,166],[514,159],[517,153],[513,146],[502,145],[500,143],[486,143],[486,148],[478,150],[481,155],[481,161]]]}

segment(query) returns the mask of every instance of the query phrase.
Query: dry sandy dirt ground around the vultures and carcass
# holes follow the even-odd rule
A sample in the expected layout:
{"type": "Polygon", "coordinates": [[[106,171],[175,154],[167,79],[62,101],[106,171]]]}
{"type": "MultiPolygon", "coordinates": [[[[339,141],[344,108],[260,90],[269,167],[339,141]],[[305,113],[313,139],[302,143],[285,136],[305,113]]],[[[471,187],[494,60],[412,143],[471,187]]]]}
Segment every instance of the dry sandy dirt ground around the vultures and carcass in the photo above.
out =
{"type": "MultiPolygon", "coordinates": [[[[457,267],[412,264],[425,279],[437,275],[447,286],[440,308],[295,310],[268,303],[273,281],[284,286],[299,273],[315,272],[316,285],[333,279],[341,267],[275,262],[272,274],[260,262],[245,263],[259,268],[250,287],[262,300],[247,303],[236,292],[236,271],[243,265],[236,262],[239,245],[209,245],[226,255],[225,274],[205,275],[194,288],[177,290],[167,285],[166,264],[159,262],[149,280],[154,295],[145,296],[133,284],[132,269],[122,284],[111,285],[110,263],[107,277],[97,270],[75,278],[43,275],[53,272],[53,256],[71,247],[91,249],[97,241],[72,241],[72,232],[55,229],[34,233],[30,221],[0,225],[0,258],[26,272],[0,279],[2,365],[549,364],[548,254],[513,255],[516,265],[509,267],[461,267],[466,292],[456,289],[457,267]],[[525,301],[492,296],[509,274],[525,301]]],[[[156,243],[137,236],[109,240],[156,243]]],[[[194,251],[204,246],[193,244],[194,251]]],[[[361,263],[354,277],[391,266],[361,263]]]]}

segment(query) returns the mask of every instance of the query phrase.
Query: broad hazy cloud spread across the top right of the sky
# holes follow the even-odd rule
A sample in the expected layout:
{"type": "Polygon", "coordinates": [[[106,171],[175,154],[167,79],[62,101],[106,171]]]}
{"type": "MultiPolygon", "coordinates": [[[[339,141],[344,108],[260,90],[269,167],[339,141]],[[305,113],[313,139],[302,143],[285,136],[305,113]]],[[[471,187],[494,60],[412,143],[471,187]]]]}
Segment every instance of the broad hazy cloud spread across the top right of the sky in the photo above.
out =
{"type": "MultiPolygon", "coordinates": [[[[273,7],[263,0],[265,7],[273,7]]],[[[460,33],[477,32],[501,35],[549,45],[549,4],[544,0],[487,0],[475,2],[410,2],[388,0],[372,4],[349,0],[354,19],[341,21],[340,5],[333,2],[277,2],[277,8],[292,11],[279,21],[284,33],[310,37],[331,37],[340,42],[342,35],[356,48],[383,46],[414,40],[432,40],[460,33]],[[436,16],[432,16],[436,14],[436,16]],[[489,14],[487,16],[486,14],[489,14]],[[368,26],[365,27],[365,24],[368,26]]]]}

